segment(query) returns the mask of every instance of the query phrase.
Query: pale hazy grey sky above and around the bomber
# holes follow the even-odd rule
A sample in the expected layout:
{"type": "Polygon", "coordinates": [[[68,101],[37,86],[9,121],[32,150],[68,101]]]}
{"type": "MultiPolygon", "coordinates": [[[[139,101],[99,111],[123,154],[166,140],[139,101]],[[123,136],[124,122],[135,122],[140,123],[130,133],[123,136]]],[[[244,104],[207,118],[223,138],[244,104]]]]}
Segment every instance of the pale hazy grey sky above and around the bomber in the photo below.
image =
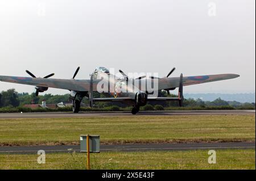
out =
{"type": "MultiPolygon", "coordinates": [[[[192,92],[255,92],[255,1],[0,1],[0,75],[88,79],[96,66],[171,75],[236,73],[192,92]]],[[[34,91],[0,82],[0,90],[34,91]]],[[[49,89],[64,94],[67,90],[49,89]]]]}

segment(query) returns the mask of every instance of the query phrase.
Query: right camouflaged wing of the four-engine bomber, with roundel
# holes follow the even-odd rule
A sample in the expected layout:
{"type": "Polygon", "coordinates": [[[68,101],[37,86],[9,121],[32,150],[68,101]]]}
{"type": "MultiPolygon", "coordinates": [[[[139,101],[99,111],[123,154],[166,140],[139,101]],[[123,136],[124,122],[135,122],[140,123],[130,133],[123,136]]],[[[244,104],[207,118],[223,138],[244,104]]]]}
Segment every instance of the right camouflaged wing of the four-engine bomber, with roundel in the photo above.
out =
{"type": "MultiPolygon", "coordinates": [[[[183,77],[183,86],[190,86],[199,83],[207,83],[214,81],[222,81],[226,79],[237,78],[240,75],[237,74],[216,74],[216,75],[197,75],[183,77]]],[[[180,77],[172,78],[159,78],[158,79],[158,90],[172,89],[179,87],[180,77]]]]}

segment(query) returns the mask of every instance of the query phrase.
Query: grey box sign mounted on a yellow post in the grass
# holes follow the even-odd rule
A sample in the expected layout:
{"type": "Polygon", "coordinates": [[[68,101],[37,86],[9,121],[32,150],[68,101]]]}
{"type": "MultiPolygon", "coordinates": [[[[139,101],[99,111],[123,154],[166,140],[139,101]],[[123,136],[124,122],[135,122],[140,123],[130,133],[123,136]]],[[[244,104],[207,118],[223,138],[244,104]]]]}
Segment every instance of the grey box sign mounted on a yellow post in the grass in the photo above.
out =
{"type": "Polygon", "coordinates": [[[90,170],[90,153],[100,153],[100,135],[80,135],[80,152],[86,152],[87,170],[90,170]]]}

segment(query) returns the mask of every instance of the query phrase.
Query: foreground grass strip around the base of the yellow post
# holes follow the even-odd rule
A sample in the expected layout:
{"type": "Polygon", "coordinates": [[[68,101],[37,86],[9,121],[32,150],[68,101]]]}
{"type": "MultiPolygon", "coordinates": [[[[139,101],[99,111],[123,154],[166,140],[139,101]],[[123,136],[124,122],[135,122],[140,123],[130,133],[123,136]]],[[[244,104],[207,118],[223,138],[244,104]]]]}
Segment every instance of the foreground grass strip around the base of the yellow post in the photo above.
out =
{"type": "MultiPolygon", "coordinates": [[[[91,169],[255,169],[255,150],[103,152],[91,154],[91,169]]],[[[38,164],[37,154],[0,154],[0,169],[86,169],[85,153],[49,153],[38,164]]]]}

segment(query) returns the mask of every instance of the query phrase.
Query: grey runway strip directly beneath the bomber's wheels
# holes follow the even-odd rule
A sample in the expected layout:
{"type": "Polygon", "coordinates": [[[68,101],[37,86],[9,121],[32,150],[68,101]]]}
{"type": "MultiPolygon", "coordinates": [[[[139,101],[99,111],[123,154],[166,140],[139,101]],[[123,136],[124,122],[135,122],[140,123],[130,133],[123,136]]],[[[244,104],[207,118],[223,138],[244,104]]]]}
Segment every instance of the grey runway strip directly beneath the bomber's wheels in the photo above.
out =
{"type": "Polygon", "coordinates": [[[54,118],[54,117],[119,117],[119,116],[172,116],[172,115],[255,115],[255,110],[206,110],[206,111],[140,111],[132,115],[130,111],[117,112],[39,112],[39,113],[0,113],[0,119],[54,118]]]}

